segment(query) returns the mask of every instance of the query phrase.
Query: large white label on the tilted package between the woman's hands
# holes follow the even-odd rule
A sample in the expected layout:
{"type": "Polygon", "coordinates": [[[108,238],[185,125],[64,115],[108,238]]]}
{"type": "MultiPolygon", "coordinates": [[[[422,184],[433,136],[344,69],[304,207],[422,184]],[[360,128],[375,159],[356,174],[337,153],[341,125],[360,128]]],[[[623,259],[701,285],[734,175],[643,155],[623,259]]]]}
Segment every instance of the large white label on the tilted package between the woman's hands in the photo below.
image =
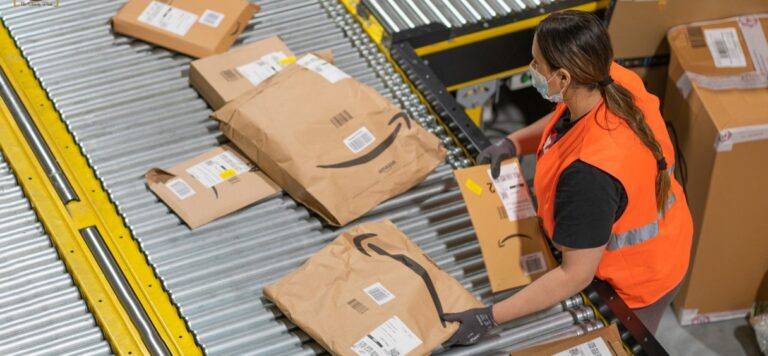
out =
{"type": "Polygon", "coordinates": [[[528,193],[528,185],[525,183],[523,172],[517,164],[509,163],[501,166],[499,178],[493,179],[491,170],[488,176],[493,181],[496,194],[501,198],[507,217],[510,221],[518,221],[536,216],[531,195],[528,193]]]}

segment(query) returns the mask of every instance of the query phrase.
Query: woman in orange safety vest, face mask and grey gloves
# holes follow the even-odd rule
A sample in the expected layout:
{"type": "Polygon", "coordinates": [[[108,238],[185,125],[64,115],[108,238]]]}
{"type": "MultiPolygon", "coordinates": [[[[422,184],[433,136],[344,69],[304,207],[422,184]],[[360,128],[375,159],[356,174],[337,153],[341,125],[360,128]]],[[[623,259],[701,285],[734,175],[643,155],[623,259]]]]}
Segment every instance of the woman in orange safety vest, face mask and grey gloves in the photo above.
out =
{"type": "Polygon", "coordinates": [[[533,40],[533,86],[554,112],[478,156],[498,177],[502,160],[536,154],[534,192],[562,264],[493,306],[445,316],[461,322],[448,342],[467,345],[496,324],[610,283],[655,332],[688,268],[693,223],[672,175],[674,152],[659,112],[633,72],[612,63],[598,18],[558,12],[533,40]]]}

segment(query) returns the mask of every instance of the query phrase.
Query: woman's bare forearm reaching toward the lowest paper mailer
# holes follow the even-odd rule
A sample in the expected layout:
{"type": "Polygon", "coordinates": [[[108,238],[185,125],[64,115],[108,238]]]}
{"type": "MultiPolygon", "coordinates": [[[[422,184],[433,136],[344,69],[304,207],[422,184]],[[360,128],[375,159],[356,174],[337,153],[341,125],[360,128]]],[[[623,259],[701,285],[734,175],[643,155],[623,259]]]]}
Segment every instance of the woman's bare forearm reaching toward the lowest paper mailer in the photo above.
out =
{"type": "Polygon", "coordinates": [[[605,245],[586,249],[563,250],[563,263],[521,291],[493,306],[493,318],[499,324],[549,308],[582,289],[592,281],[603,256],[605,245]]]}

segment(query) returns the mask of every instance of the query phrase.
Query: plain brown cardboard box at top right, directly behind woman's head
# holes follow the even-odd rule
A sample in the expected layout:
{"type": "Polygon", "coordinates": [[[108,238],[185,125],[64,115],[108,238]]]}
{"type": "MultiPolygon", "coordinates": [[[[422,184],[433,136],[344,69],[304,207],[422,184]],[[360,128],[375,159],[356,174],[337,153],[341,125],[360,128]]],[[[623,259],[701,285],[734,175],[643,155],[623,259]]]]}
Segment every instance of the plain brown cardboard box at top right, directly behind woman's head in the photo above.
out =
{"type": "Polygon", "coordinates": [[[650,57],[669,53],[665,36],[674,26],[765,11],[765,0],[618,0],[608,33],[614,57],[650,57]]]}

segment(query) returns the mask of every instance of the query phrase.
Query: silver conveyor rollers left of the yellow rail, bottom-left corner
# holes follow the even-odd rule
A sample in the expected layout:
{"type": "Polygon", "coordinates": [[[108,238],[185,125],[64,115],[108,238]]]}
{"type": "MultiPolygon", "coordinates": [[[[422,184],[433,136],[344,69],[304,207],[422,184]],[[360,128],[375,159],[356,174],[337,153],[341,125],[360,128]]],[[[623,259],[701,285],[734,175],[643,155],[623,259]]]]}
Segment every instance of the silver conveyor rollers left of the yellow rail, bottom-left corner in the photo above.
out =
{"type": "Polygon", "coordinates": [[[0,155],[0,354],[109,355],[109,344],[0,155]]]}

